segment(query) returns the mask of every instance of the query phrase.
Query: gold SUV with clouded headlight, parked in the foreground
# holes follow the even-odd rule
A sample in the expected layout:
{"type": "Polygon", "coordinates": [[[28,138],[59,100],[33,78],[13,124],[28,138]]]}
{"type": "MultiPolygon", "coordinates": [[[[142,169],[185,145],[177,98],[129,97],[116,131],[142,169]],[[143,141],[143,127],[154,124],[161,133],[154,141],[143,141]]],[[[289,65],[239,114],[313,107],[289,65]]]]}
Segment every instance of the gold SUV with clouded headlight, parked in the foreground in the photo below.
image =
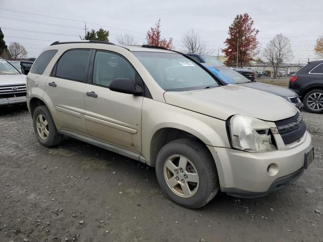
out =
{"type": "Polygon", "coordinates": [[[287,100],[226,84],[183,53],[109,42],[55,42],[27,76],[38,141],[63,136],[154,166],[176,203],[198,208],[219,190],[259,197],[313,160],[301,113],[287,100]]]}

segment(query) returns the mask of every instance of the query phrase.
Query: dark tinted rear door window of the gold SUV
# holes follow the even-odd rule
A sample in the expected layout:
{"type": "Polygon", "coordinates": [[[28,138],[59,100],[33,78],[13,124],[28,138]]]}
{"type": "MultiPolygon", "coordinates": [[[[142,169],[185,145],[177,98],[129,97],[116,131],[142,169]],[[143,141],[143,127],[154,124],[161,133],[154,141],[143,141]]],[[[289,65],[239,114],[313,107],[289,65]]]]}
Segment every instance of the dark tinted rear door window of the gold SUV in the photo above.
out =
{"type": "Polygon", "coordinates": [[[89,49],[73,49],[65,52],[56,67],[56,77],[74,81],[86,82],[89,49]]]}

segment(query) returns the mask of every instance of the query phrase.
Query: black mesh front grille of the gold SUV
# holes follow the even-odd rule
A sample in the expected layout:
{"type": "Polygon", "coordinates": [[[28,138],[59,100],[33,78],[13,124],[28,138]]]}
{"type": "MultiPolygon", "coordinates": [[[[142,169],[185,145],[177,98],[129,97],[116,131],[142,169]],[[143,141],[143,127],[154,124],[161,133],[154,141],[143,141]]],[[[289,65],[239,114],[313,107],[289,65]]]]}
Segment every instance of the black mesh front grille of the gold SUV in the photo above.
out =
{"type": "Polygon", "coordinates": [[[301,113],[275,122],[285,145],[298,141],[306,132],[306,125],[301,113]]]}

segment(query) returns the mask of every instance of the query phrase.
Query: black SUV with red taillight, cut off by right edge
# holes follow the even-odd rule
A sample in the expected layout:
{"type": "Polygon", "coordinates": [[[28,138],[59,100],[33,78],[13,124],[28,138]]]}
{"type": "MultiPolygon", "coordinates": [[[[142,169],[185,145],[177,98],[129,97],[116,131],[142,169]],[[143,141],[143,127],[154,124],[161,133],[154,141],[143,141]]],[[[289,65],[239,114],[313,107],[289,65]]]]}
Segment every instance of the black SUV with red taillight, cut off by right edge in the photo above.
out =
{"type": "Polygon", "coordinates": [[[295,91],[309,112],[323,112],[323,59],[309,62],[293,74],[289,88],[295,91]]]}

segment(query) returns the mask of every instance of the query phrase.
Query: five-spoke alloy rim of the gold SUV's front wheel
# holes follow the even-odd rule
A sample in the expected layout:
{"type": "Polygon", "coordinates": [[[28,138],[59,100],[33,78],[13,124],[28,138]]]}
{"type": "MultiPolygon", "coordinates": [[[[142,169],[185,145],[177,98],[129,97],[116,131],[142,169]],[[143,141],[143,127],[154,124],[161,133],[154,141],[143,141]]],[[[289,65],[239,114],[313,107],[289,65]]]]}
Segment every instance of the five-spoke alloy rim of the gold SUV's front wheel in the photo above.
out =
{"type": "Polygon", "coordinates": [[[166,160],[164,178],[171,191],[182,198],[194,196],[199,188],[197,170],[183,155],[172,155],[166,160]]]}

